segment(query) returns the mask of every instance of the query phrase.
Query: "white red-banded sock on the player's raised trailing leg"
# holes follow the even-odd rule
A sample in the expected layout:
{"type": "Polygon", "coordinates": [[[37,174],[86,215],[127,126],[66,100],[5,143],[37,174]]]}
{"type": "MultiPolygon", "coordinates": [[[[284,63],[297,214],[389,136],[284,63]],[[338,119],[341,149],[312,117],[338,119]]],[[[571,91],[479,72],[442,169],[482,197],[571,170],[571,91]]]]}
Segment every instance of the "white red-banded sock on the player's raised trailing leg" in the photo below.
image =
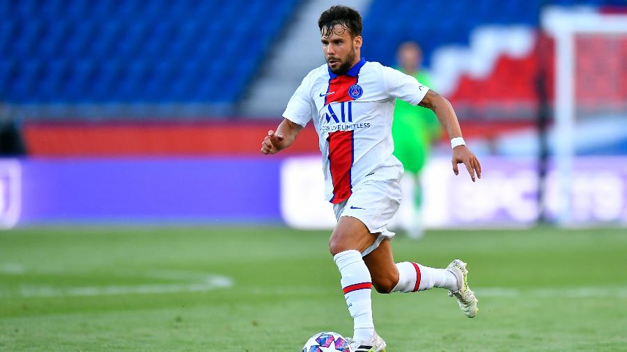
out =
{"type": "Polygon", "coordinates": [[[414,262],[396,263],[398,283],[392,292],[424,291],[433,287],[441,287],[457,291],[457,278],[447,269],[436,269],[414,262]]]}

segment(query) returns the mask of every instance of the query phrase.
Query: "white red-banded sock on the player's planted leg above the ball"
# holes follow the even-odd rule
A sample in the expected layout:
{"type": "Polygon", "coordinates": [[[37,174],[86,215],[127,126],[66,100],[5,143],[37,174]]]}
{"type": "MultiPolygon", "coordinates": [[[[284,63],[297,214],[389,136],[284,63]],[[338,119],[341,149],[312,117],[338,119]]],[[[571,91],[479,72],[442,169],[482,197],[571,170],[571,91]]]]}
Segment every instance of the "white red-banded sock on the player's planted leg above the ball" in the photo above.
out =
{"type": "Polygon", "coordinates": [[[374,336],[372,321],[372,279],[370,271],[358,250],[345,250],[333,257],[340,275],[341,284],[348,305],[348,312],[355,324],[354,339],[370,341],[374,336]]]}

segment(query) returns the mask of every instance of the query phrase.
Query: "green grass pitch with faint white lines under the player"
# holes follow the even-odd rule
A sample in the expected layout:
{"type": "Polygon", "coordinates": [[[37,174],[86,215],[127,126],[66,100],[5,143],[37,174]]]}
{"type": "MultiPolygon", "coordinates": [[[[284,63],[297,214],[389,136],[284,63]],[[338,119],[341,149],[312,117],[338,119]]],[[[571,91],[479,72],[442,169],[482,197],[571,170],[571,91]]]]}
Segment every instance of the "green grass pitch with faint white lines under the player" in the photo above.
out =
{"type": "MultiPolygon", "coordinates": [[[[52,227],[0,232],[0,351],[300,351],[350,336],[329,232],[52,227]]],[[[389,352],[625,351],[627,230],[432,231],[397,262],[468,263],[443,289],[373,292],[389,352]]]]}

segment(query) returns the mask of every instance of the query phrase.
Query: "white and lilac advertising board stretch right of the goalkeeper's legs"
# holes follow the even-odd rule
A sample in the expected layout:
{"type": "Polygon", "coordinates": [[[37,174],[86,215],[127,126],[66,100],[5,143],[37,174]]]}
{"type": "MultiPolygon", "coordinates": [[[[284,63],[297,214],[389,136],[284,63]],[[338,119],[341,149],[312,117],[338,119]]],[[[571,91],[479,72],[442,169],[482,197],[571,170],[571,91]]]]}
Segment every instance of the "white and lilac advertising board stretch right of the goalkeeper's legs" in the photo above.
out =
{"type": "Polygon", "coordinates": [[[532,224],[541,211],[539,204],[548,221],[559,222],[567,203],[564,225],[627,224],[627,158],[580,157],[566,180],[549,164],[542,184],[532,159],[485,158],[482,178],[475,183],[468,181],[463,167],[460,177],[451,177],[450,168],[443,160],[435,172],[441,175],[435,182],[442,187],[440,196],[448,200],[449,223],[532,224]]]}

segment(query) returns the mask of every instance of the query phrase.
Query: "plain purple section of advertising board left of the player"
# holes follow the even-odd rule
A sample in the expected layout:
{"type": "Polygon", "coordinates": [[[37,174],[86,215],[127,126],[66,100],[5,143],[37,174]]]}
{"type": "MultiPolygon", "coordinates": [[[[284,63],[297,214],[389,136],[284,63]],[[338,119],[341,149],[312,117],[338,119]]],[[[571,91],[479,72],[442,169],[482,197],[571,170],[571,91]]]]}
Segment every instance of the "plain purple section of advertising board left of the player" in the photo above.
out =
{"type": "MultiPolygon", "coordinates": [[[[279,159],[24,159],[19,225],[279,223],[279,159]]],[[[4,180],[9,162],[0,167],[4,180]],[[4,173],[3,171],[4,170],[4,173]]],[[[6,181],[3,181],[3,184],[6,181]]],[[[5,197],[10,192],[3,188],[5,197]]],[[[15,192],[15,191],[14,191],[15,192]]]]}

